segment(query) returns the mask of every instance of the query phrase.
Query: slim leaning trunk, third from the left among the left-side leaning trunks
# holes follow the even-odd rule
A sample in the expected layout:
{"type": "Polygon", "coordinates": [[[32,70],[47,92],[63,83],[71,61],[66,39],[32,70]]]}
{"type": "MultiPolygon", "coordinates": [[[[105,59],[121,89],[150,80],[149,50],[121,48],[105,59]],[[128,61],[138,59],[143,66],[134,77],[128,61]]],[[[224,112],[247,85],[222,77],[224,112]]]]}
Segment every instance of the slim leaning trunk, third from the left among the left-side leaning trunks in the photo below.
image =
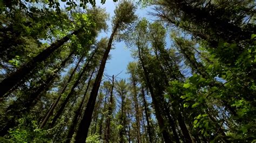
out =
{"type": "Polygon", "coordinates": [[[80,58],[79,61],[77,62],[77,65],[76,65],[76,67],[73,69],[72,73],[70,74],[68,81],[65,83],[64,87],[62,88],[62,90],[60,90],[57,99],[55,100],[55,102],[54,102],[53,105],[51,106],[50,110],[48,111],[48,113],[47,113],[46,116],[44,117],[44,119],[43,119],[42,123],[40,124],[39,128],[43,128],[43,127],[45,126],[45,124],[47,123],[47,121],[49,120],[50,116],[52,115],[53,110],[56,108],[56,106],[57,106],[57,104],[58,104],[58,102],[59,102],[60,97],[62,97],[62,94],[63,94],[64,91],[66,90],[66,87],[68,87],[69,82],[71,81],[73,75],[76,73],[76,70],[77,70],[77,68],[78,68],[78,66],[79,66],[79,64],[80,64],[80,62],[82,61],[83,58],[84,58],[84,57],[81,56],[81,58],[80,58]]]}

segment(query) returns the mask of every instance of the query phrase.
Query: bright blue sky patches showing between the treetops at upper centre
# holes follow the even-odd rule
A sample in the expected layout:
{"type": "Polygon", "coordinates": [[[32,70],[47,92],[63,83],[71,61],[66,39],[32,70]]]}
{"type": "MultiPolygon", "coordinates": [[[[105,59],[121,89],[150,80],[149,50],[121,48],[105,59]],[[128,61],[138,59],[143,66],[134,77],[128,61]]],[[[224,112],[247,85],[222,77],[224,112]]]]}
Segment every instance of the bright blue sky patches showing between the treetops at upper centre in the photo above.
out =
{"type": "MultiPolygon", "coordinates": [[[[109,25],[109,31],[107,33],[104,33],[104,32],[100,33],[98,39],[103,37],[109,38],[112,30],[111,18],[114,16],[114,9],[117,3],[114,3],[112,0],[106,0],[105,4],[100,4],[100,0],[97,0],[96,5],[100,6],[101,8],[105,8],[106,12],[110,14],[110,20],[109,22],[107,22],[107,24],[109,25]]],[[[140,18],[142,17],[150,18],[150,16],[147,16],[146,14],[147,11],[149,10],[150,8],[140,9],[140,7],[138,6],[136,15],[140,18]]],[[[126,74],[126,67],[129,62],[133,61],[133,58],[131,57],[130,49],[125,46],[124,42],[114,41],[112,46],[114,47],[114,49],[111,49],[110,51],[111,59],[108,60],[106,63],[104,74],[112,76],[112,75],[117,75],[122,71],[122,73],[120,73],[118,77],[128,78],[129,75],[126,74]]]]}

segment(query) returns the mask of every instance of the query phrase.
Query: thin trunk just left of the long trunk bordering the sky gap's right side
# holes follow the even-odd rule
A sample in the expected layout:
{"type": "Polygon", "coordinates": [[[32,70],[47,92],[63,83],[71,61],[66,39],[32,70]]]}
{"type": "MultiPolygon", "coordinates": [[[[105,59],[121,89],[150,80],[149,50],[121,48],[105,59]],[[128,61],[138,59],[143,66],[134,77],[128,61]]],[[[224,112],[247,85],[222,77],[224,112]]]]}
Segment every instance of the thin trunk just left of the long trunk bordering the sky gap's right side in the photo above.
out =
{"type": "Polygon", "coordinates": [[[146,102],[146,98],[145,98],[145,92],[144,92],[144,87],[142,87],[142,97],[143,97],[143,105],[144,105],[144,110],[145,110],[145,115],[146,115],[146,120],[147,120],[147,134],[149,134],[149,139],[150,142],[153,142],[152,136],[152,128],[150,125],[150,120],[149,120],[149,113],[147,112],[147,102],[146,102]]]}

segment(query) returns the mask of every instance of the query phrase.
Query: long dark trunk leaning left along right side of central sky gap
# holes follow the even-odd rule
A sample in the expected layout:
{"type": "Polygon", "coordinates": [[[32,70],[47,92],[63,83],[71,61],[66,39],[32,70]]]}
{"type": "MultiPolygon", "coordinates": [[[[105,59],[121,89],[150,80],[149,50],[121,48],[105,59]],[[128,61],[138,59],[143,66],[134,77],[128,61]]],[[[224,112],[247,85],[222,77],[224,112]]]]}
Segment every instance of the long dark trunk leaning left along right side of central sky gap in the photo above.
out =
{"type": "Polygon", "coordinates": [[[139,42],[138,42],[137,46],[138,46],[138,52],[139,52],[139,60],[142,63],[142,68],[143,68],[143,71],[144,71],[144,76],[146,78],[146,85],[147,85],[147,87],[150,90],[150,94],[151,94],[151,97],[152,97],[152,102],[153,102],[153,105],[154,105],[154,110],[156,111],[156,117],[157,117],[157,120],[158,120],[158,125],[160,127],[161,134],[163,135],[163,138],[164,138],[165,142],[172,142],[170,134],[167,132],[167,128],[164,125],[164,119],[163,119],[163,117],[161,116],[161,113],[160,113],[160,108],[159,108],[159,105],[158,105],[157,97],[154,95],[154,92],[153,92],[153,87],[152,87],[151,82],[150,82],[149,73],[146,70],[146,67],[144,65],[144,61],[142,59],[142,55],[140,54],[139,42]]]}

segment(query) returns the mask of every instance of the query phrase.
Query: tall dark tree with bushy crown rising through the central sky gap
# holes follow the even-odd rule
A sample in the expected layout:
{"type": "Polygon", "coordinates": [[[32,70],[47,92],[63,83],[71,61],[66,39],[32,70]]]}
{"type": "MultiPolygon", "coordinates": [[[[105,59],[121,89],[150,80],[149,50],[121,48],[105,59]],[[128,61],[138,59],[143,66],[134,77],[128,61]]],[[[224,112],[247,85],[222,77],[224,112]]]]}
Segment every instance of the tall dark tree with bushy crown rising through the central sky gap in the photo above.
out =
{"type": "Polygon", "coordinates": [[[84,117],[83,117],[81,124],[78,128],[78,132],[76,135],[77,142],[83,142],[86,140],[89,126],[91,123],[92,112],[93,112],[93,109],[95,106],[95,102],[96,102],[96,98],[97,98],[97,94],[98,94],[98,90],[99,90],[100,81],[102,80],[107,56],[109,55],[114,35],[118,31],[125,30],[125,28],[129,24],[131,24],[134,19],[136,19],[136,16],[134,15],[134,10],[135,10],[135,7],[132,3],[124,1],[124,2],[119,3],[119,5],[117,6],[117,9],[114,11],[116,16],[113,18],[112,34],[110,36],[109,43],[107,44],[106,51],[103,55],[102,62],[100,63],[99,71],[96,76],[95,83],[93,84],[93,88],[92,88],[92,91],[90,94],[89,101],[86,105],[84,117]]]}

